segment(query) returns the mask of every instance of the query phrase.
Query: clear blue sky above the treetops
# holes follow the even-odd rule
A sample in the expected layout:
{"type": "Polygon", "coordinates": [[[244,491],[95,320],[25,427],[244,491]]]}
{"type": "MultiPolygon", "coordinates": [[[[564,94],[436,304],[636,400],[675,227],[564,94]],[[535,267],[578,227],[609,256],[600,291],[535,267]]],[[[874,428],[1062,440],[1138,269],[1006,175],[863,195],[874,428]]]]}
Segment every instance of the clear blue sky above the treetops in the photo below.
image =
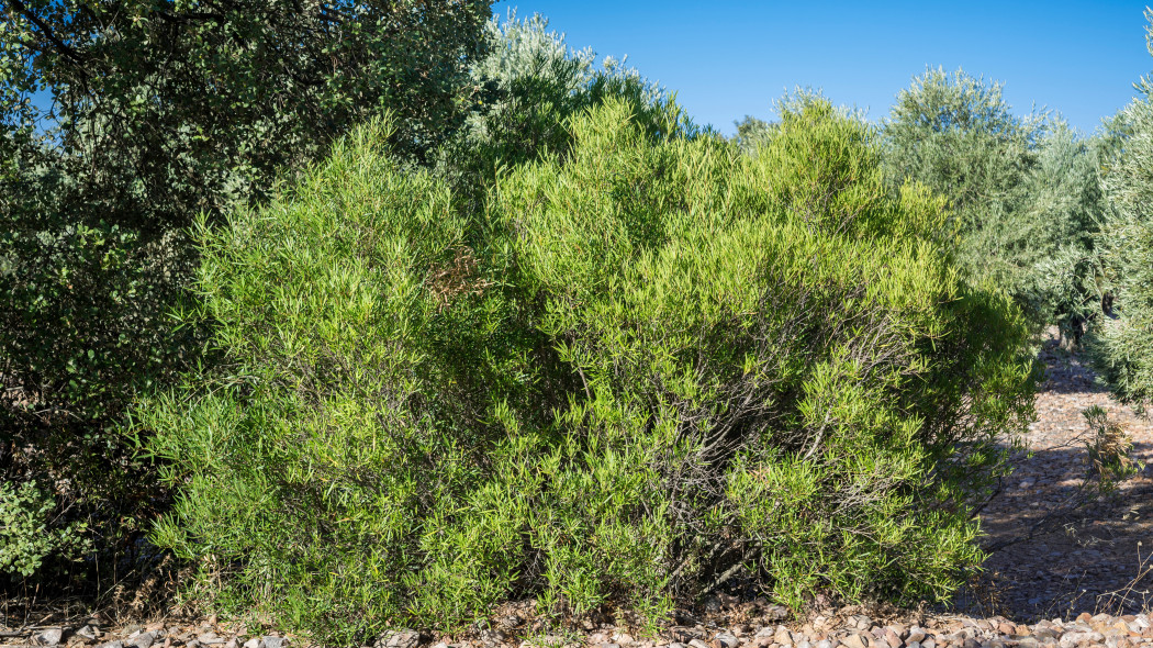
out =
{"type": "Polygon", "coordinates": [[[548,16],[570,46],[628,54],[724,134],[746,114],[773,118],[796,85],[880,119],[926,66],[1003,82],[1016,112],[1048,107],[1087,134],[1153,69],[1141,1],[502,0],[493,12],[513,7],[548,16]]]}

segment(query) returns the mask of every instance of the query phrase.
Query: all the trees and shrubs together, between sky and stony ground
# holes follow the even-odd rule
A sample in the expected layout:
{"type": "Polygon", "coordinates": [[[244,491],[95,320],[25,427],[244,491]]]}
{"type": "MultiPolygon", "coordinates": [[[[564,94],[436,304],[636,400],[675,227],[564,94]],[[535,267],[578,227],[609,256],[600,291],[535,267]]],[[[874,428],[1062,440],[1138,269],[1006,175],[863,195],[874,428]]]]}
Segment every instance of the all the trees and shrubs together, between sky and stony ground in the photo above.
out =
{"type": "Polygon", "coordinates": [[[0,3],[13,588],[175,557],[360,645],[944,601],[1046,327],[1153,394],[1147,81],[1091,136],[928,69],[726,140],[487,1],[106,5],[0,3]]]}

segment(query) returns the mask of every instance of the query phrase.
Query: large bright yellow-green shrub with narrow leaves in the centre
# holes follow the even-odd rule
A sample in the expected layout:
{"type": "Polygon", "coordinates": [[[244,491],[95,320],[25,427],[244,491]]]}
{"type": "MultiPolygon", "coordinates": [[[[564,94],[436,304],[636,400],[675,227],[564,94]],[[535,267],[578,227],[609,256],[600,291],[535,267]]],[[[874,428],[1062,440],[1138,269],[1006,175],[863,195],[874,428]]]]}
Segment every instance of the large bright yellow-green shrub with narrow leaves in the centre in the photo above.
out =
{"type": "Polygon", "coordinates": [[[188,317],[225,360],[137,424],[179,492],[156,538],[218,604],[363,641],[526,596],[650,621],[737,585],[937,598],[980,560],[1032,364],[941,201],[891,198],[827,103],[752,159],[636,113],[574,116],[483,211],[377,123],[199,231],[188,317]]]}

